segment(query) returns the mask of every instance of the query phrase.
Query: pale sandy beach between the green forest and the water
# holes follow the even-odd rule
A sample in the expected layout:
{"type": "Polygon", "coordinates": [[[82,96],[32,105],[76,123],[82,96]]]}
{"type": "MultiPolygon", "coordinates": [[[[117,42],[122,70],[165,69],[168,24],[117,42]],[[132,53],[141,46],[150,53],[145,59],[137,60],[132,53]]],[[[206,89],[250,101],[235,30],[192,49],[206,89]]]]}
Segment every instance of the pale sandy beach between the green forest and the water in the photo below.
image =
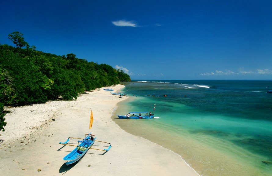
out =
{"type": "MultiPolygon", "coordinates": [[[[123,87],[111,88],[118,92],[123,87]]],[[[177,154],[125,132],[111,120],[117,103],[126,98],[100,88],[76,101],[5,108],[10,113],[5,116],[5,132],[0,132],[1,175],[198,175],[177,154]],[[91,110],[90,131],[97,140],[111,142],[112,148],[104,155],[90,149],[77,164],[67,167],[63,157],[74,147],[58,143],[85,137],[91,110]]],[[[104,149],[107,144],[95,142],[93,148],[104,149]]]]}

